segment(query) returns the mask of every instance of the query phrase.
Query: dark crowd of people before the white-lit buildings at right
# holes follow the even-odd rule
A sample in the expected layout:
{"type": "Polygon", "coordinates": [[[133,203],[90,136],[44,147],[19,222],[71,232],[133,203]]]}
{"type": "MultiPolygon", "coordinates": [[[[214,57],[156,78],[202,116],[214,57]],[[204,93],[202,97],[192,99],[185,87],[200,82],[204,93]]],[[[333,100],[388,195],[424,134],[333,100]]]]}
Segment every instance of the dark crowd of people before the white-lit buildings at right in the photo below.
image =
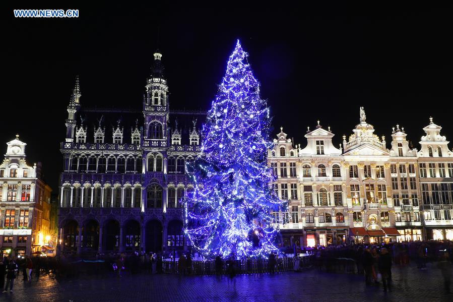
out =
{"type": "Polygon", "coordinates": [[[315,266],[328,272],[343,271],[363,274],[367,285],[382,283],[383,290],[391,289],[392,265],[407,266],[415,262],[426,269],[427,262],[437,262],[444,279],[445,290],[450,291],[453,263],[453,241],[411,241],[390,244],[350,244],[316,247],[315,266]]]}

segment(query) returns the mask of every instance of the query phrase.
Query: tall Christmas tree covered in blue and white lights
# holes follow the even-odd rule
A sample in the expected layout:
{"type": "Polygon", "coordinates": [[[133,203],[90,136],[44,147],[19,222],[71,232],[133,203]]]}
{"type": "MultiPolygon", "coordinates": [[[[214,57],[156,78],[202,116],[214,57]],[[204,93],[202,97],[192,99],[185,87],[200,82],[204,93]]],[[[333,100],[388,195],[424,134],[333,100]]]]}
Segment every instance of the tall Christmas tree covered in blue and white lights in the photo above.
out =
{"type": "Polygon", "coordinates": [[[270,188],[270,121],[238,40],[203,125],[202,156],[186,167],[196,190],[185,204],[185,234],[205,258],[278,251],[270,211],[283,203],[270,188]]]}

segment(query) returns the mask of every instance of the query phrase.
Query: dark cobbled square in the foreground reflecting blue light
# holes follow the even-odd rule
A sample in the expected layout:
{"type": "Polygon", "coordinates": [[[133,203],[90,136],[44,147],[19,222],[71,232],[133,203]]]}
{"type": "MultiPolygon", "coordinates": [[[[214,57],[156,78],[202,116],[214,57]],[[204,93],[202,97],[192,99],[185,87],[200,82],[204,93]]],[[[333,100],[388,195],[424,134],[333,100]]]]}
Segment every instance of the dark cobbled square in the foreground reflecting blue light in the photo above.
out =
{"type": "MultiPolygon", "coordinates": [[[[36,277],[35,277],[36,278],[36,277]]],[[[393,269],[391,292],[366,287],[358,275],[301,273],[239,275],[228,277],[126,275],[56,281],[43,276],[31,284],[17,279],[14,293],[0,294],[3,301],[451,301],[444,294],[438,269],[428,265],[393,269]]]]}

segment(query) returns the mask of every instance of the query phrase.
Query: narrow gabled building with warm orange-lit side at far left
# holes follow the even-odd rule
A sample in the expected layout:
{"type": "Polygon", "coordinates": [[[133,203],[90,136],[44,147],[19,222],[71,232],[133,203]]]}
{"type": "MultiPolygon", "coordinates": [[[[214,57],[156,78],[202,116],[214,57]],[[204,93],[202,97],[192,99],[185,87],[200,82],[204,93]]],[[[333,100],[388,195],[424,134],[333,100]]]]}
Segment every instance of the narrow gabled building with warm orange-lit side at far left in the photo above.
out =
{"type": "Polygon", "coordinates": [[[27,165],[27,144],[17,135],[7,145],[0,165],[0,250],[3,255],[30,255],[41,251],[49,234],[52,190],[41,179],[41,163],[27,165]]]}

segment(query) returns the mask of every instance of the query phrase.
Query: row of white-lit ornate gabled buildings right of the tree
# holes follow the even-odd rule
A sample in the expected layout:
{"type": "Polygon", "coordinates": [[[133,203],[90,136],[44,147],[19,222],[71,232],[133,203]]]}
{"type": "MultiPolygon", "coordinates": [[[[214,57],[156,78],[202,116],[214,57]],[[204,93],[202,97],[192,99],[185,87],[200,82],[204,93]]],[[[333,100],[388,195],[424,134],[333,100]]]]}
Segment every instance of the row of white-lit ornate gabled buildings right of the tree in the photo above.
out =
{"type": "Polygon", "coordinates": [[[440,129],[431,119],[417,151],[399,125],[387,149],[363,108],[339,148],[319,121],[308,128],[305,148],[282,128],[269,164],[277,177],[274,190],[289,202],[286,212],[273,213],[283,245],[453,239],[453,160],[440,129]]]}

